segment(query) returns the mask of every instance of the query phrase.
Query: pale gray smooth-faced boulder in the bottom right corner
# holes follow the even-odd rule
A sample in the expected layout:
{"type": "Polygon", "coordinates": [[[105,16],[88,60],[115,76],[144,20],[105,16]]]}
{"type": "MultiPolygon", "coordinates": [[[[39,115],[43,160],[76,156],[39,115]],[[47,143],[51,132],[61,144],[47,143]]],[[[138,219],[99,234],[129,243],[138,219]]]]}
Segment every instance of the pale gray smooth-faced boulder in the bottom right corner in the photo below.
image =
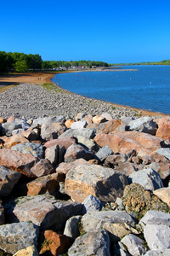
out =
{"type": "Polygon", "coordinates": [[[170,227],[167,225],[147,224],[144,227],[144,239],[150,250],[165,250],[170,248],[170,227]]]}

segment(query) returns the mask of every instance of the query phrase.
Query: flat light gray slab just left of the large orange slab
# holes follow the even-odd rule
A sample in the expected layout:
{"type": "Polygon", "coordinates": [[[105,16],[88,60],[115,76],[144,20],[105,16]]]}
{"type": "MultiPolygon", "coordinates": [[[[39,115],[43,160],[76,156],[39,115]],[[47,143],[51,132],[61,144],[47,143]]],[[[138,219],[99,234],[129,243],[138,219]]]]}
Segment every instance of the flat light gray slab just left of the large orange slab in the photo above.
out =
{"type": "Polygon", "coordinates": [[[93,139],[96,135],[96,129],[95,128],[69,129],[65,131],[63,134],[61,134],[59,138],[77,137],[78,135],[86,137],[87,139],[93,139]]]}

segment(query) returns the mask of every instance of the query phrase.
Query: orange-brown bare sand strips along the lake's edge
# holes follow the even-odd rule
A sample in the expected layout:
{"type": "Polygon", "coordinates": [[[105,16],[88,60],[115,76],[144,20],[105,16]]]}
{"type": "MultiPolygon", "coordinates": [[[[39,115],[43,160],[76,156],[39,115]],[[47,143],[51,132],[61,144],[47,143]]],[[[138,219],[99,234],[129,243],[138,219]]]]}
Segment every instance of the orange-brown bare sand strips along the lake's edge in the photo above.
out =
{"type": "MultiPolygon", "coordinates": [[[[90,71],[90,70],[87,70],[90,71]]],[[[93,71],[99,71],[99,70],[93,70],[93,71]]],[[[105,70],[107,71],[107,70],[105,70]]],[[[111,70],[111,72],[116,71],[116,69],[111,70]]],[[[117,71],[134,71],[132,70],[120,70],[117,71]]],[[[135,70],[136,71],[136,70],[135,70]]],[[[84,72],[84,70],[74,70],[74,71],[62,71],[62,72],[56,72],[56,73],[70,73],[70,72],[84,72]]],[[[56,73],[14,73],[14,74],[8,74],[0,76],[0,93],[8,90],[10,88],[13,88],[14,86],[18,84],[44,84],[44,83],[52,83],[51,79],[53,79],[54,75],[56,73]]],[[[111,102],[108,102],[111,103],[111,102]]],[[[124,105],[119,105],[115,103],[111,103],[112,106],[115,107],[121,107],[121,108],[129,108],[133,109],[134,111],[140,112],[141,115],[149,115],[149,116],[169,116],[166,113],[157,113],[157,112],[151,112],[139,108],[132,108],[127,107],[124,105]]]]}

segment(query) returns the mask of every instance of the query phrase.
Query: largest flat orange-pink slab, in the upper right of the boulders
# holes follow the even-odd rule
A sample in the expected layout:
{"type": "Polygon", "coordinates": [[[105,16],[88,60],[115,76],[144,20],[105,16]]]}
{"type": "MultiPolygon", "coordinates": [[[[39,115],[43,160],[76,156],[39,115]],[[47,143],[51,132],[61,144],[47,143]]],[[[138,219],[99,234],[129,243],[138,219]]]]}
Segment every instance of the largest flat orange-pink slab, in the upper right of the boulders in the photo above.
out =
{"type": "Polygon", "coordinates": [[[110,134],[97,134],[94,141],[99,147],[109,146],[115,154],[126,154],[133,149],[137,153],[141,149],[156,151],[164,145],[161,138],[139,131],[114,131],[110,134]]]}

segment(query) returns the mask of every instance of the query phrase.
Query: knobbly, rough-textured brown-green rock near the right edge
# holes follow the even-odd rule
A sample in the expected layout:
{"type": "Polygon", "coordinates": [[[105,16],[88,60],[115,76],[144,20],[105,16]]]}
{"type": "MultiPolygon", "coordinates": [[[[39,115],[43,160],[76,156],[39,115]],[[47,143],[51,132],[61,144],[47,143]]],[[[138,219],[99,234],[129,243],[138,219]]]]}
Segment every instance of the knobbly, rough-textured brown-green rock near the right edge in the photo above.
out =
{"type": "Polygon", "coordinates": [[[137,212],[137,218],[144,217],[149,210],[168,212],[167,204],[138,183],[127,185],[122,196],[127,212],[137,212]]]}

